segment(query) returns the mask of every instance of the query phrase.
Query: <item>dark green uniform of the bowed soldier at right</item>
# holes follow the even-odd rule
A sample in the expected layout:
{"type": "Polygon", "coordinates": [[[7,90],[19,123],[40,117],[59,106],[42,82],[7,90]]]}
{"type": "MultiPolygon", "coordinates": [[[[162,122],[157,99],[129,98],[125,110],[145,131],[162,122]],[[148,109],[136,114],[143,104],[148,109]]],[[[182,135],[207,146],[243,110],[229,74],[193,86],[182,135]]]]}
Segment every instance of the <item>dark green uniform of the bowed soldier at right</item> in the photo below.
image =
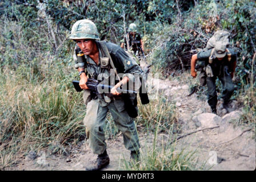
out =
{"type": "MultiPolygon", "coordinates": [[[[211,56],[212,49],[203,49],[203,51],[197,54],[197,60],[200,65],[205,65],[206,71],[206,84],[208,94],[208,104],[211,109],[216,109],[217,106],[217,93],[216,93],[216,78],[221,80],[223,85],[223,92],[221,98],[224,102],[228,102],[234,91],[234,84],[230,76],[231,65],[237,60],[237,55],[233,49],[229,48],[231,53],[231,60],[229,61],[227,55],[222,60],[218,60],[217,57],[213,57],[213,62],[209,63],[209,57],[211,56]]],[[[197,63],[198,63],[197,62],[197,63]]]]}

